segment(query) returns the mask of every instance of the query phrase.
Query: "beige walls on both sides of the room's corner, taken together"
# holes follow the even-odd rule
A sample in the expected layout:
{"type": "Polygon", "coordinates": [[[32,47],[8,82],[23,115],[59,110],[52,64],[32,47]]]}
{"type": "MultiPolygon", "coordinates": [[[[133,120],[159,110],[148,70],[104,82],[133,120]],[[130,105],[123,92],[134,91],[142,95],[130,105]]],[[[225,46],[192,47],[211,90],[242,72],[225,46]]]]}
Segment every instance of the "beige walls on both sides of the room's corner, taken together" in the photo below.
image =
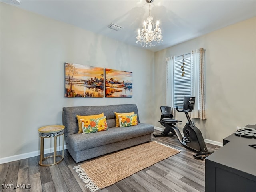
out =
{"type": "Polygon", "coordinates": [[[0,5],[0,158],[38,151],[38,128],[62,124],[64,106],[134,103],[141,122],[161,127],[165,58],[199,47],[206,49],[208,119],[196,120],[203,136],[222,142],[236,126],[256,123],[255,18],[152,53],[0,5]],[[132,71],[133,97],[64,98],[64,62],[132,71]]]}

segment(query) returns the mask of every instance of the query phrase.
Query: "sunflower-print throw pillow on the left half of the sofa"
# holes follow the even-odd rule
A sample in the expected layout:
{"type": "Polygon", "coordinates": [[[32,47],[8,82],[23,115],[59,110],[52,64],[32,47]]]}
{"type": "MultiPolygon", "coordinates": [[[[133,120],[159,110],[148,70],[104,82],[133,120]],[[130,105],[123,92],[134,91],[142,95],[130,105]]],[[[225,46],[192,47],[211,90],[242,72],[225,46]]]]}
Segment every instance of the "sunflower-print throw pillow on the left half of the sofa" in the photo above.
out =
{"type": "Polygon", "coordinates": [[[108,130],[106,116],[96,119],[81,120],[81,122],[83,134],[108,130]]]}

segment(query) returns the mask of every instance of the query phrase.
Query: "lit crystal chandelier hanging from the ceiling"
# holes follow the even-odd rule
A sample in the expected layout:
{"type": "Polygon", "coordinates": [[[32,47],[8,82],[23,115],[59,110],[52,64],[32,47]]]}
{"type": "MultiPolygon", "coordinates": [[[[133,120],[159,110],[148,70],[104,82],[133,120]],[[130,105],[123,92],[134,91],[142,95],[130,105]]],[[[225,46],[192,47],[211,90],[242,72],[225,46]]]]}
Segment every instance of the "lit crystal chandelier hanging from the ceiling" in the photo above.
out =
{"type": "Polygon", "coordinates": [[[156,46],[157,43],[163,41],[163,36],[161,33],[161,29],[159,28],[159,21],[156,22],[156,28],[154,27],[154,20],[153,17],[150,16],[150,3],[152,3],[154,0],[146,0],[147,3],[149,3],[149,17],[147,17],[147,20],[143,23],[143,29],[138,29],[138,36],[136,43],[141,44],[142,47],[146,45],[146,47],[149,45],[156,46]]]}

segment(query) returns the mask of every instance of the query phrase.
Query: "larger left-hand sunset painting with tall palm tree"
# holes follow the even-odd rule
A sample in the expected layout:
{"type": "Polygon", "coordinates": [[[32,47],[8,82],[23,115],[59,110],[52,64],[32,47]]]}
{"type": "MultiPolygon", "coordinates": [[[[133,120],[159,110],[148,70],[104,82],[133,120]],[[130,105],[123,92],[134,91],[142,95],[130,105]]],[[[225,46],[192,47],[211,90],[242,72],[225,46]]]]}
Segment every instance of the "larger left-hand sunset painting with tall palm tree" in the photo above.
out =
{"type": "Polygon", "coordinates": [[[103,68],[65,63],[65,97],[103,96],[103,68]]]}

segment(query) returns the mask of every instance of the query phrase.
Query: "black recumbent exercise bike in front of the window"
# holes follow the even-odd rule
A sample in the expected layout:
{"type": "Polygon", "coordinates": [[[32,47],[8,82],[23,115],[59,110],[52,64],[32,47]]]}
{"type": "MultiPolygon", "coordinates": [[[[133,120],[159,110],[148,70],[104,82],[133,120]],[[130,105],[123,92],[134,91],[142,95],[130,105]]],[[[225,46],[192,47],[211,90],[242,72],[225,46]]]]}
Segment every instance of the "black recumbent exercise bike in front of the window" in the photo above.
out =
{"type": "Polygon", "coordinates": [[[166,137],[166,136],[173,136],[176,135],[180,143],[192,150],[195,151],[197,154],[193,155],[196,159],[202,159],[208,157],[208,155],[212,154],[207,150],[206,144],[204,143],[204,138],[202,136],[201,131],[195,126],[194,122],[191,121],[188,112],[191,112],[194,109],[195,97],[184,97],[183,109],[179,110],[178,106],[176,106],[176,110],[178,112],[184,112],[188,122],[183,128],[184,137],[182,137],[180,130],[175,127],[174,125],[178,124],[178,121],[172,119],[172,108],[168,106],[161,106],[161,118],[160,122],[161,125],[165,127],[162,133],[153,134],[154,137],[166,137]],[[171,132],[171,133],[170,133],[171,132]]]}

